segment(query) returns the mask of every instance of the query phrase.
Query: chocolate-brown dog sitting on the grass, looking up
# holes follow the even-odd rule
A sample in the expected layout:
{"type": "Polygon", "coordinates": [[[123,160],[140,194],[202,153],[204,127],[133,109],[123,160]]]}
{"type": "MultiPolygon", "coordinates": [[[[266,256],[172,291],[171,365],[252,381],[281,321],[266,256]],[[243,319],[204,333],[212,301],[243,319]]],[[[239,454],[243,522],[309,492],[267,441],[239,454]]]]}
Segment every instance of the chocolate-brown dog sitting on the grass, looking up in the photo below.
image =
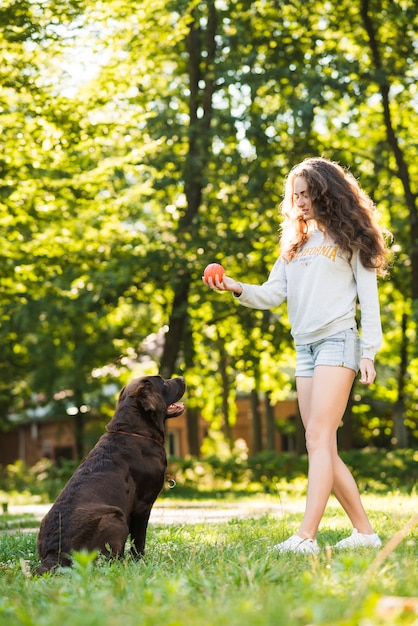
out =
{"type": "Polygon", "coordinates": [[[164,484],[164,425],[184,411],[184,379],[145,376],[119,394],[115,415],[41,522],[38,574],[71,564],[71,552],[120,556],[130,534],[145,547],[148,519],[164,484]]]}

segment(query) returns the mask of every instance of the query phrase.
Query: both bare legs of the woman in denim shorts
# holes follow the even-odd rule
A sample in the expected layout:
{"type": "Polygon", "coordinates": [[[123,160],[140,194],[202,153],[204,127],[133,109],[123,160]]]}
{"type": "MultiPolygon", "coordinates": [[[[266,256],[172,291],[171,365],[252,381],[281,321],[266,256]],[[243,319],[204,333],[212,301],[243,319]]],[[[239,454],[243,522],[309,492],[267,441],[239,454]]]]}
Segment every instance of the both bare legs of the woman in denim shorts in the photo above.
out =
{"type": "Polygon", "coordinates": [[[315,368],[312,378],[296,379],[309,457],[306,510],[298,532],[301,537],[315,538],[331,491],[353,526],[361,533],[373,533],[354,478],[337,451],[337,428],[353,380],[353,370],[323,365],[315,368]]]}

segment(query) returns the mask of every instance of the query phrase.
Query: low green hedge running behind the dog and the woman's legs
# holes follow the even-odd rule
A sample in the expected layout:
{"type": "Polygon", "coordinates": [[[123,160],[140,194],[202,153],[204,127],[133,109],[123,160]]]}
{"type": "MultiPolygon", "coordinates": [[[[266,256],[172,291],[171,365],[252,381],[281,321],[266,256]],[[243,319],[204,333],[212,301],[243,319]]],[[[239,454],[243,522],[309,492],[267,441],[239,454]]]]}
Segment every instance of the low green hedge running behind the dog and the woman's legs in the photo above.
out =
{"type": "MultiPolygon", "coordinates": [[[[379,449],[343,452],[360,490],[369,493],[414,493],[418,483],[418,453],[415,450],[379,449]]],[[[13,501],[17,494],[35,496],[42,502],[55,500],[75,470],[75,463],[59,466],[44,459],[29,468],[18,461],[2,469],[0,502],[13,501]]],[[[218,498],[243,493],[295,494],[306,490],[307,457],[264,451],[253,457],[236,454],[225,459],[172,459],[168,474],[176,481],[174,489],[164,489],[162,498],[218,498]]]]}

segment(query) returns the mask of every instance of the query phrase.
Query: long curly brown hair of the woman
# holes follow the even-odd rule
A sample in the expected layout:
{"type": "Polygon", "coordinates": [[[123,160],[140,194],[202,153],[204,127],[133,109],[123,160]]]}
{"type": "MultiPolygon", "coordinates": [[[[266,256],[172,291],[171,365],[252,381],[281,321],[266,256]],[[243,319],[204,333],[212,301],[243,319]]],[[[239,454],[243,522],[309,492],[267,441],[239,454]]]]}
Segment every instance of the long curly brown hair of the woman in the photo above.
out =
{"type": "Polygon", "coordinates": [[[308,239],[308,225],[294,202],[294,183],[299,176],[306,179],[318,227],[332,237],[348,260],[358,250],[364,267],[385,274],[388,250],[384,233],[389,233],[379,226],[372,199],[350,172],[322,157],[295,165],[286,179],[280,238],[286,261],[291,261],[308,239]]]}

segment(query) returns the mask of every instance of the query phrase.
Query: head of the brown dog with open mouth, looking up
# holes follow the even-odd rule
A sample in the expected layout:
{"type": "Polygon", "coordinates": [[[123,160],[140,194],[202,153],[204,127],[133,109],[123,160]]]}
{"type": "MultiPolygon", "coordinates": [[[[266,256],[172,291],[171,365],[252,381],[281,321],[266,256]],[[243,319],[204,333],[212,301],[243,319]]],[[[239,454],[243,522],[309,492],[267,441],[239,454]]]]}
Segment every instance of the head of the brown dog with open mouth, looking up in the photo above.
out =
{"type": "Polygon", "coordinates": [[[180,399],[185,391],[186,383],[181,376],[169,379],[161,376],[135,378],[120,392],[116,413],[107,427],[137,430],[141,424],[145,425],[146,420],[162,431],[166,419],[183,413],[184,402],[180,399]]]}

